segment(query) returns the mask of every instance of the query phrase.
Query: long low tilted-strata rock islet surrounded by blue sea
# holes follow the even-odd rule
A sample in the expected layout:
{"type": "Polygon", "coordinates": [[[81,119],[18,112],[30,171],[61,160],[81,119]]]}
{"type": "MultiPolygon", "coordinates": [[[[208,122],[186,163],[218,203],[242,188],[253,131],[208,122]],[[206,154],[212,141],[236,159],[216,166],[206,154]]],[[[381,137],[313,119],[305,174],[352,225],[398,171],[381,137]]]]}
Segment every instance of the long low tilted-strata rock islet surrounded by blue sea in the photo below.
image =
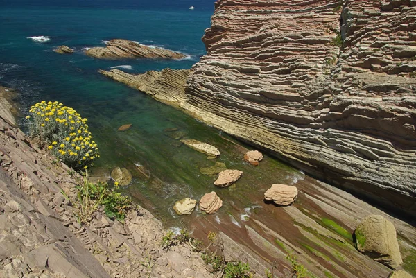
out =
{"type": "Polygon", "coordinates": [[[185,55],[159,47],[149,47],[130,40],[114,39],[105,47],[92,47],[85,51],[86,55],[100,59],[118,58],[164,58],[181,59],[185,55]]]}

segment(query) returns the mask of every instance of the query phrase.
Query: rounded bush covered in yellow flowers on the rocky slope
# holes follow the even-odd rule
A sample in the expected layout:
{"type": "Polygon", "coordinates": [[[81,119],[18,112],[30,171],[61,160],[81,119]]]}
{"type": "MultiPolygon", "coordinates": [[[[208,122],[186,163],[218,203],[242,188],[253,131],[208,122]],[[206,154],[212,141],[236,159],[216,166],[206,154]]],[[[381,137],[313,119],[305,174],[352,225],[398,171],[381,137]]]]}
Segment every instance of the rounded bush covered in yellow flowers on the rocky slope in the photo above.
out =
{"type": "Polygon", "coordinates": [[[88,131],[87,119],[58,101],[41,101],[31,107],[28,119],[32,137],[39,137],[59,159],[75,169],[87,168],[100,157],[88,131]]]}

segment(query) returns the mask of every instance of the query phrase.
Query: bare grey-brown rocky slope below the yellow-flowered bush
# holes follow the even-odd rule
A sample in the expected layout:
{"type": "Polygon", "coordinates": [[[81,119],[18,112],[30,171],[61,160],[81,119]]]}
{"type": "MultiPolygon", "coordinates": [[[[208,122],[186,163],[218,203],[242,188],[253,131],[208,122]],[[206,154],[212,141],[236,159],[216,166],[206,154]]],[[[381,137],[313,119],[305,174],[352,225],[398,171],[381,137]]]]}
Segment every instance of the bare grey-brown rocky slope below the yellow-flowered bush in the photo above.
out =
{"type": "Polygon", "coordinates": [[[0,277],[212,277],[187,243],[164,250],[166,230],[142,207],[129,211],[125,223],[100,209],[80,225],[61,192],[73,198],[82,177],[26,139],[4,112],[0,277]]]}

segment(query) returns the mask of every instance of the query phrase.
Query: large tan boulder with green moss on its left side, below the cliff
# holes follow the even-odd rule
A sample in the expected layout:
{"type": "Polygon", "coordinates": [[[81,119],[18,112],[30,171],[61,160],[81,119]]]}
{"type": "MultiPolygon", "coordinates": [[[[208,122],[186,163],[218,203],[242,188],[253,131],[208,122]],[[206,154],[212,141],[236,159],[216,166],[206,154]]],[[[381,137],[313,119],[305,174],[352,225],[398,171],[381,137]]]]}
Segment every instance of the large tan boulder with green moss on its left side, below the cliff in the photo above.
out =
{"type": "Polygon", "coordinates": [[[383,216],[370,215],[354,231],[354,244],[358,251],[375,261],[397,268],[401,260],[395,226],[383,216]]]}

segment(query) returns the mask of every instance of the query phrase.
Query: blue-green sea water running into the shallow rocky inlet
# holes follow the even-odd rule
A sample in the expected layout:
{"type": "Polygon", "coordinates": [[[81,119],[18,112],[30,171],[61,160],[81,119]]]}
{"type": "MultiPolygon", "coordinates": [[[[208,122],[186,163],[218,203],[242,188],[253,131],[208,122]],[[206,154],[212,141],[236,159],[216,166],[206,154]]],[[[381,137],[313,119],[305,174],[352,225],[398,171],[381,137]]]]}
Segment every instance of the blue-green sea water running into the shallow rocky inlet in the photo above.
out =
{"type": "MultiPolygon", "coordinates": [[[[251,166],[243,161],[251,146],[98,73],[114,68],[137,74],[167,67],[190,69],[206,53],[201,38],[213,12],[214,0],[0,0],[0,85],[17,90],[24,115],[34,103],[59,101],[86,117],[101,154],[92,171],[110,177],[113,168],[127,168],[133,180],[121,191],[166,227],[189,227],[207,218],[209,223],[242,230],[247,211],[264,205],[263,192],[271,184],[295,184],[304,174],[267,156],[257,168],[251,166]],[[98,60],[84,54],[114,38],[186,57],[98,60]],[[76,52],[53,52],[60,45],[76,52]],[[117,131],[128,123],[130,130],[117,131]],[[220,149],[220,158],[207,159],[178,137],[212,144],[220,149]],[[200,169],[217,162],[243,171],[243,177],[232,188],[217,188],[216,175],[203,175],[200,169]],[[177,200],[199,200],[210,191],[224,202],[215,217],[198,208],[188,218],[173,211],[177,200]]],[[[25,129],[24,119],[20,124],[25,129]]],[[[233,229],[231,234],[236,233],[233,229]]]]}

